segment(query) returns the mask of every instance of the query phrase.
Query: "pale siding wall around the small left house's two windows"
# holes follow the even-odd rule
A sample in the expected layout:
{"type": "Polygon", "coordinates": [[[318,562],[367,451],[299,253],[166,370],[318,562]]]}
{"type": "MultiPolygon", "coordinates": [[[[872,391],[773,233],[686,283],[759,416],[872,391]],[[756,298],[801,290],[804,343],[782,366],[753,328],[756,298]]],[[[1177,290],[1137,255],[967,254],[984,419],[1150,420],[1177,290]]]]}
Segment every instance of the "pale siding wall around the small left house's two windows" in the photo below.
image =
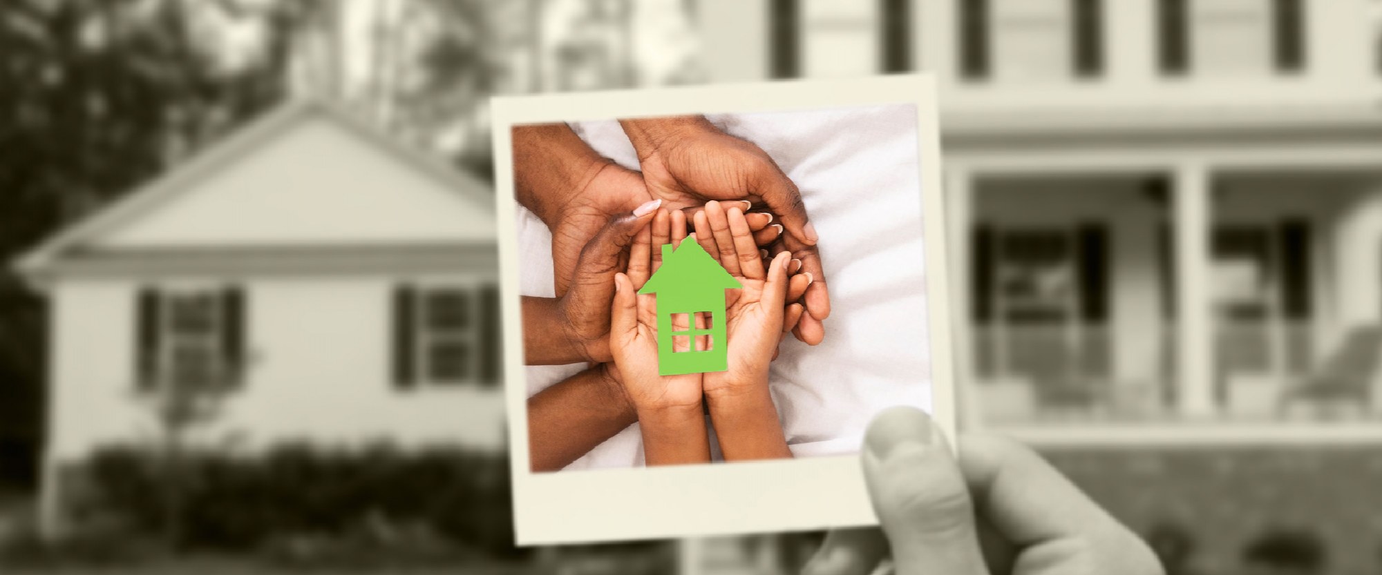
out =
{"type": "MultiPolygon", "coordinates": [[[[247,381],[203,435],[234,433],[250,446],[387,438],[502,448],[500,384],[394,388],[392,285],[390,278],[346,276],[243,283],[247,381]]],[[[156,426],[133,393],[137,289],[116,281],[54,288],[50,458],[155,437],[156,426]]]]}

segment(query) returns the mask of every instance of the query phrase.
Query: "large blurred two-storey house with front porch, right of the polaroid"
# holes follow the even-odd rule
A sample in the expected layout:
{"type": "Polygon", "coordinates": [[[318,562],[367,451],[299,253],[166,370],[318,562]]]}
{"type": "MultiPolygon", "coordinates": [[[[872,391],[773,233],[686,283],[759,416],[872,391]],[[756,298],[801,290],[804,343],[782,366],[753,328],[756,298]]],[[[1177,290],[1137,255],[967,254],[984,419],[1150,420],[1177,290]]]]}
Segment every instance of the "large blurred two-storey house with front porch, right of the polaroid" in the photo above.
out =
{"type": "Polygon", "coordinates": [[[714,82],[937,76],[970,424],[1041,446],[1135,528],[1193,527],[1220,571],[1274,521],[1374,567],[1382,525],[1349,509],[1382,506],[1360,459],[1382,437],[1382,3],[695,17],[714,82]]]}

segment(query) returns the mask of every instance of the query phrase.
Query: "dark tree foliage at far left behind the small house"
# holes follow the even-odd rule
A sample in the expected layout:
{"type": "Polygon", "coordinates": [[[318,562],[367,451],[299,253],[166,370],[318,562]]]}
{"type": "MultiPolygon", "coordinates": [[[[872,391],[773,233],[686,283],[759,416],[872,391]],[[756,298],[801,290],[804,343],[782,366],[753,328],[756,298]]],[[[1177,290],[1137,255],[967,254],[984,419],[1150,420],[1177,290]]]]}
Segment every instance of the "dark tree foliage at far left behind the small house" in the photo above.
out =
{"type": "MultiPolygon", "coordinates": [[[[3,435],[39,435],[40,300],[8,263],[59,227],[276,102],[293,21],[227,66],[184,0],[8,0],[0,4],[0,405],[3,435]]],[[[8,466],[6,466],[8,467],[8,466]]]]}

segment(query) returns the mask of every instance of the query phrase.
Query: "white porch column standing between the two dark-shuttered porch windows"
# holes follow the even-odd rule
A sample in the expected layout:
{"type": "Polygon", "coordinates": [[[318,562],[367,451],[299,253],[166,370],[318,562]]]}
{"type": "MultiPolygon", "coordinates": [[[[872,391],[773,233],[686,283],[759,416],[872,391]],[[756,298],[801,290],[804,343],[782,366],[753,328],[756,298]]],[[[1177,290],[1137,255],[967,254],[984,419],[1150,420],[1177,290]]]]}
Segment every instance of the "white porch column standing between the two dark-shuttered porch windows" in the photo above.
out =
{"type": "Polygon", "coordinates": [[[1173,180],[1177,408],[1182,416],[1205,417],[1216,412],[1209,305],[1209,170],[1200,163],[1186,163],[1176,169],[1173,180]]]}

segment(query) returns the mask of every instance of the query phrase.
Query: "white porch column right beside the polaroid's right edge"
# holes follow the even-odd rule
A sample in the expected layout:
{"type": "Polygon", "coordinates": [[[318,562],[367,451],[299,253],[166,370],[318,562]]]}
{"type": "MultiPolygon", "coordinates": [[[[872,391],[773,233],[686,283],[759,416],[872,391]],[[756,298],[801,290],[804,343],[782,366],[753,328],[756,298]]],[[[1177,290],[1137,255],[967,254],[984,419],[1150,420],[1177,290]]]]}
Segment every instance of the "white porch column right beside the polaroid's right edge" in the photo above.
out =
{"type": "Polygon", "coordinates": [[[962,427],[977,423],[978,393],[974,381],[973,319],[970,299],[974,286],[974,265],[970,257],[970,229],[974,227],[974,178],[970,170],[951,163],[945,166],[945,241],[951,293],[951,347],[954,354],[955,399],[959,404],[956,423],[962,427]]]}

